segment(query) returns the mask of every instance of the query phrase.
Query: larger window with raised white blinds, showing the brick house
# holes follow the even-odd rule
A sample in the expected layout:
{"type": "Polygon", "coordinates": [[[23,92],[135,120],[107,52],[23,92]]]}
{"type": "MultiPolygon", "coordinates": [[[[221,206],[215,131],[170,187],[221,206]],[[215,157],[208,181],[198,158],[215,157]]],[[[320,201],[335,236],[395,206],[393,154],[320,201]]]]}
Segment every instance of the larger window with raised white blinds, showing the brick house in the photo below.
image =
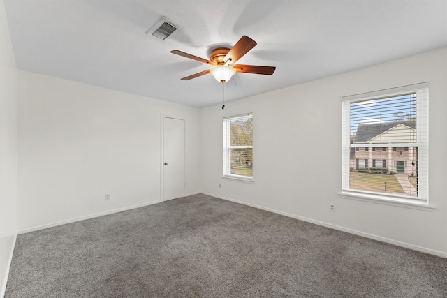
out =
{"type": "Polygon", "coordinates": [[[342,98],[342,130],[342,193],[427,201],[428,83],[342,98]]]}

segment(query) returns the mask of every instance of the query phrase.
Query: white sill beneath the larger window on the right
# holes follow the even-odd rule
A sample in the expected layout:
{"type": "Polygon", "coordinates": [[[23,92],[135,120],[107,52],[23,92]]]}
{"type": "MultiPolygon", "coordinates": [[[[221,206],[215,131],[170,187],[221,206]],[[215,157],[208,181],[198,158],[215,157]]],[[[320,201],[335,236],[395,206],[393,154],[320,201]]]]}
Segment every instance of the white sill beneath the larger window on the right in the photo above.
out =
{"type": "Polygon", "coordinates": [[[430,206],[427,202],[416,202],[413,200],[399,198],[385,198],[381,195],[363,194],[351,191],[340,191],[339,196],[349,200],[359,200],[363,202],[372,202],[375,204],[385,204],[396,207],[417,209],[423,211],[434,211],[436,207],[430,206]]]}

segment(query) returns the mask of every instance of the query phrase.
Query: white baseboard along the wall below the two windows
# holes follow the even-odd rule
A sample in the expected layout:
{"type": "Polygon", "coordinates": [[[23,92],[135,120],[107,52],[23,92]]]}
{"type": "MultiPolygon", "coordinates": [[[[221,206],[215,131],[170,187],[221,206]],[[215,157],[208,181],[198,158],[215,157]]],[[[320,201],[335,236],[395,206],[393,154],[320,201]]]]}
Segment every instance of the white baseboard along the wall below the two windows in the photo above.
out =
{"type": "Polygon", "coordinates": [[[298,216],[298,215],[295,215],[295,214],[289,214],[289,213],[286,213],[286,212],[283,212],[283,211],[279,211],[279,210],[276,210],[276,209],[271,209],[271,208],[259,206],[259,205],[256,205],[256,204],[250,204],[250,203],[247,203],[247,202],[242,202],[240,200],[234,200],[234,199],[231,199],[231,198],[226,198],[226,197],[223,197],[221,195],[214,195],[212,193],[204,193],[204,194],[205,195],[211,195],[214,198],[219,198],[219,199],[222,199],[222,200],[227,200],[227,201],[235,202],[235,203],[238,203],[238,204],[244,204],[244,205],[247,205],[247,206],[250,206],[250,207],[254,207],[254,208],[262,209],[262,210],[265,210],[265,211],[270,211],[270,212],[273,212],[273,213],[276,213],[276,214],[281,214],[281,215],[288,216],[288,217],[291,217],[291,218],[299,219],[300,221],[307,221],[308,223],[314,223],[316,225],[322,225],[323,227],[326,227],[326,228],[331,228],[331,229],[334,229],[334,230],[339,230],[339,231],[347,232],[347,233],[350,233],[350,234],[356,234],[356,235],[361,236],[361,237],[374,239],[374,240],[385,242],[385,243],[388,243],[388,244],[393,244],[395,246],[401,246],[401,247],[404,247],[404,248],[409,248],[409,249],[412,249],[413,251],[420,251],[422,253],[428,253],[430,255],[437,255],[438,257],[441,257],[441,258],[447,258],[447,253],[444,253],[442,251],[435,251],[435,250],[430,249],[430,248],[425,248],[425,247],[421,247],[421,246],[417,246],[417,245],[413,245],[413,244],[408,244],[408,243],[405,243],[405,242],[401,242],[401,241],[397,241],[397,240],[393,240],[393,239],[388,239],[388,238],[377,236],[377,235],[374,235],[374,234],[360,232],[358,230],[352,230],[352,229],[349,229],[349,228],[344,228],[344,227],[341,227],[339,225],[332,225],[332,223],[325,223],[323,221],[316,221],[316,220],[311,219],[311,218],[306,218],[306,217],[298,216]]]}

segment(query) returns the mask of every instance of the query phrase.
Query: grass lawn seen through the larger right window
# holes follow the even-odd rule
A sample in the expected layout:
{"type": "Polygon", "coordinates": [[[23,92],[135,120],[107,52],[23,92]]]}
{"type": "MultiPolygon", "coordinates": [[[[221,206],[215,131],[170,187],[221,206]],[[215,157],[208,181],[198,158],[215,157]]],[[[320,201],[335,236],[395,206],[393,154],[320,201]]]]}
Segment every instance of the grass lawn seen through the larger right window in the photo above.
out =
{"type": "Polygon", "coordinates": [[[397,181],[397,178],[388,174],[350,172],[349,183],[352,189],[377,191],[380,193],[405,193],[402,186],[400,186],[400,183],[397,181]]]}

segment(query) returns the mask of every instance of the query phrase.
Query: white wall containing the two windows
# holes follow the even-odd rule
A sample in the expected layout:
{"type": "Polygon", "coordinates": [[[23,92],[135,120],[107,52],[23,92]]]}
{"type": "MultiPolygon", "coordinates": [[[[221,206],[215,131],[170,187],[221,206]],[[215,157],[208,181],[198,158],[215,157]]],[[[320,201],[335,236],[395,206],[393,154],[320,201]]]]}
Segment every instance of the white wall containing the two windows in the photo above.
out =
{"type": "MultiPolygon", "coordinates": [[[[277,70],[281,71],[281,70],[277,70]]],[[[447,48],[200,110],[202,190],[447,257],[447,48]],[[430,81],[430,204],[340,198],[340,96],[430,81]],[[254,112],[254,184],[222,179],[222,119],[254,112]],[[222,188],[219,189],[219,184],[222,188]],[[335,204],[335,212],[329,211],[335,204]]]]}

